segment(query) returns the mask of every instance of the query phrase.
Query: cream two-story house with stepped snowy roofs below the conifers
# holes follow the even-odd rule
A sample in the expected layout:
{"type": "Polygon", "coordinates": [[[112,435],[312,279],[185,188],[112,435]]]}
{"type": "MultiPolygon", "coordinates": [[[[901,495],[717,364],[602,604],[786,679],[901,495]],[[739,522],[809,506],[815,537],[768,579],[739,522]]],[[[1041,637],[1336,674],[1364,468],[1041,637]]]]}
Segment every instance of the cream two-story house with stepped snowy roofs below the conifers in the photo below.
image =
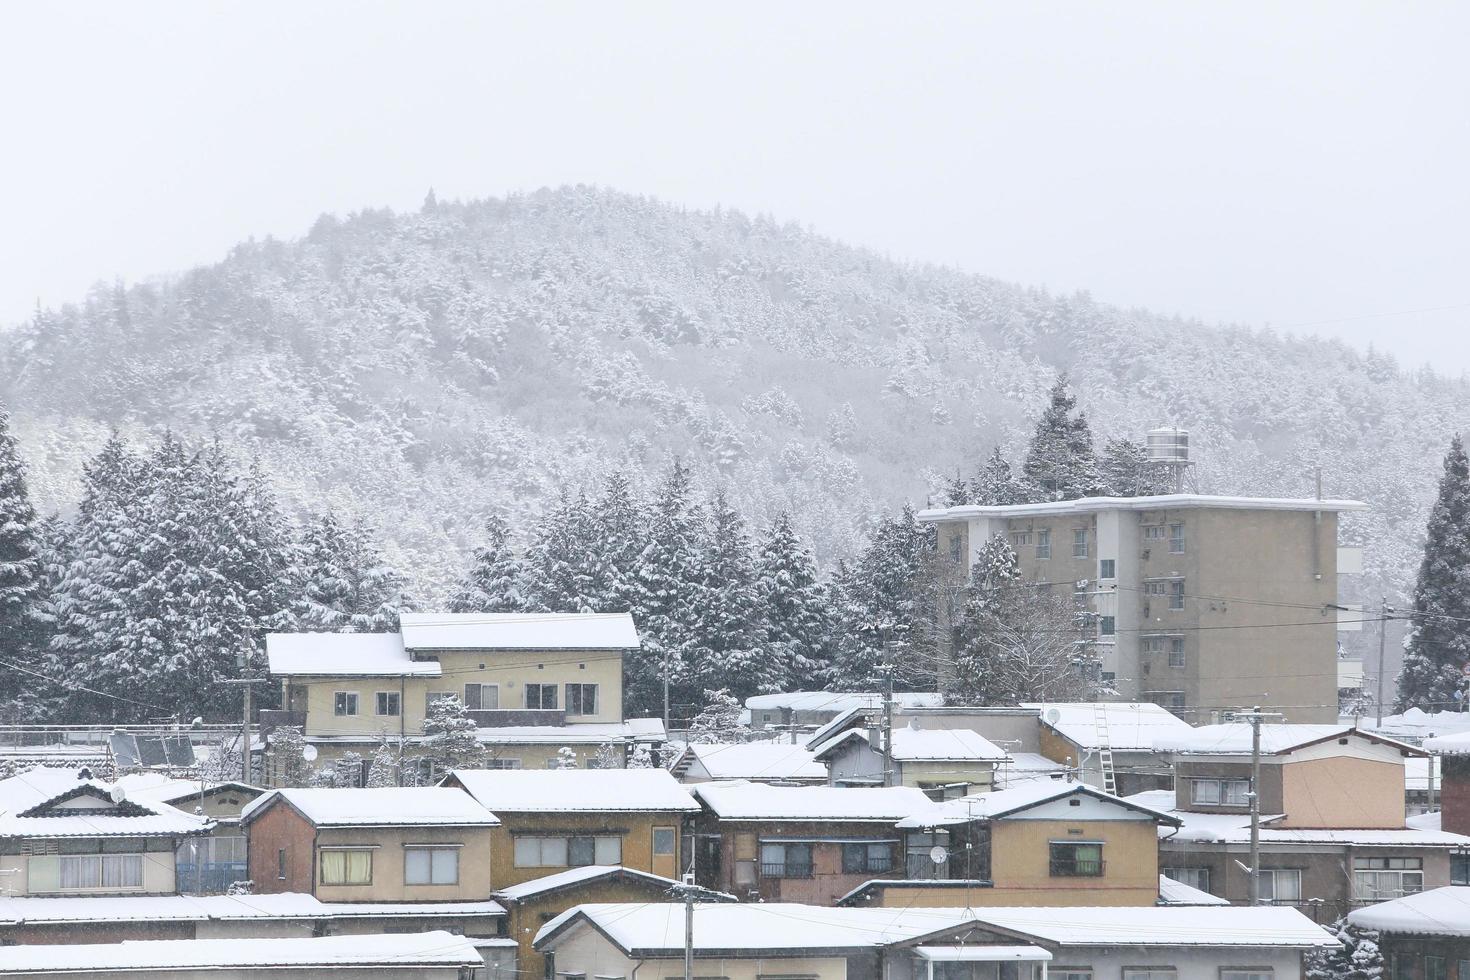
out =
{"type": "Polygon", "coordinates": [[[659,745],[657,720],[623,720],[623,654],[638,648],[626,613],[404,613],[397,633],[272,633],[270,676],[284,713],[322,761],[363,755],[381,741],[410,745],[429,705],[460,701],[503,768],[584,765],[604,743],[625,754],[659,745]]]}

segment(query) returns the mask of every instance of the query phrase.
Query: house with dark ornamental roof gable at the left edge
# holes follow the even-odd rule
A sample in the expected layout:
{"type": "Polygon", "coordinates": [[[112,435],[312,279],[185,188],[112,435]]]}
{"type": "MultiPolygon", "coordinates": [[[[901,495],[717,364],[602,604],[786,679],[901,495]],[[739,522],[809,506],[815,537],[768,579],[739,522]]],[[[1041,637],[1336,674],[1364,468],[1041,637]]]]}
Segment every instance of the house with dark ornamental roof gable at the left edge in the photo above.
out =
{"type": "Polygon", "coordinates": [[[6,895],[173,895],[175,852],[213,829],[91,770],[32,768],[0,780],[6,895]]]}

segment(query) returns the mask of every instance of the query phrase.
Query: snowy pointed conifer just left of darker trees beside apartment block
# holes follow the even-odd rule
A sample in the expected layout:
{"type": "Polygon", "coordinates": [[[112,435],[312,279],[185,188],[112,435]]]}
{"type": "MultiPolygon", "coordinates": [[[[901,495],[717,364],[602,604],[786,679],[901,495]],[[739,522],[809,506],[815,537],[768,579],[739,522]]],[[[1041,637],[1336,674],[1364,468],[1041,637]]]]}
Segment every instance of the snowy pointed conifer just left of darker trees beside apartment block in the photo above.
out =
{"type": "Polygon", "coordinates": [[[770,523],[756,558],[756,595],[764,629],[766,682],[750,693],[804,691],[826,671],[826,597],[816,560],[801,545],[791,514],[770,523]]]}

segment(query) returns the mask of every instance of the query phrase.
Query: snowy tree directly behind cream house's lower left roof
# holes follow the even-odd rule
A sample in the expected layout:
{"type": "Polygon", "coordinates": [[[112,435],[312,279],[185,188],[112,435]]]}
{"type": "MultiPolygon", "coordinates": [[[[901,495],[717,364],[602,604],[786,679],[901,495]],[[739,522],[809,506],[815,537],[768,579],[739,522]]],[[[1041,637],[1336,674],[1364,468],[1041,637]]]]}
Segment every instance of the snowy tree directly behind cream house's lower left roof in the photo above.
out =
{"type": "Polygon", "coordinates": [[[388,633],[413,599],[403,574],[373,547],[363,525],[344,526],[331,513],[309,522],[300,548],[298,629],[388,633]]]}

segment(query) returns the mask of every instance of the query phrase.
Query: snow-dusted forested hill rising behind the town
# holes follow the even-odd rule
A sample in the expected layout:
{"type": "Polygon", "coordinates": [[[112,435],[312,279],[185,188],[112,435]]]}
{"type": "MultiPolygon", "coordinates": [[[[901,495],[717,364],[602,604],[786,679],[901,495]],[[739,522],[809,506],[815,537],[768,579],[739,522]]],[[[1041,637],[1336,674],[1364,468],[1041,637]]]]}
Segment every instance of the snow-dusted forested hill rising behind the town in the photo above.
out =
{"type": "MultiPolygon", "coordinates": [[[[978,229],[976,234],[983,234],[978,229]]],[[[1063,234],[1058,231],[1058,234],[1063,234]]],[[[672,455],[826,564],[1000,442],[1058,372],[1100,436],[1194,433],[1202,489],[1358,497],[1411,585],[1466,383],[1336,342],[1208,328],[886,260],[736,212],[594,188],[323,216],[168,281],[98,287],[4,336],[43,511],[106,442],[172,428],[257,454],[290,508],[365,517],[420,602],[510,527],[672,455]]]]}

